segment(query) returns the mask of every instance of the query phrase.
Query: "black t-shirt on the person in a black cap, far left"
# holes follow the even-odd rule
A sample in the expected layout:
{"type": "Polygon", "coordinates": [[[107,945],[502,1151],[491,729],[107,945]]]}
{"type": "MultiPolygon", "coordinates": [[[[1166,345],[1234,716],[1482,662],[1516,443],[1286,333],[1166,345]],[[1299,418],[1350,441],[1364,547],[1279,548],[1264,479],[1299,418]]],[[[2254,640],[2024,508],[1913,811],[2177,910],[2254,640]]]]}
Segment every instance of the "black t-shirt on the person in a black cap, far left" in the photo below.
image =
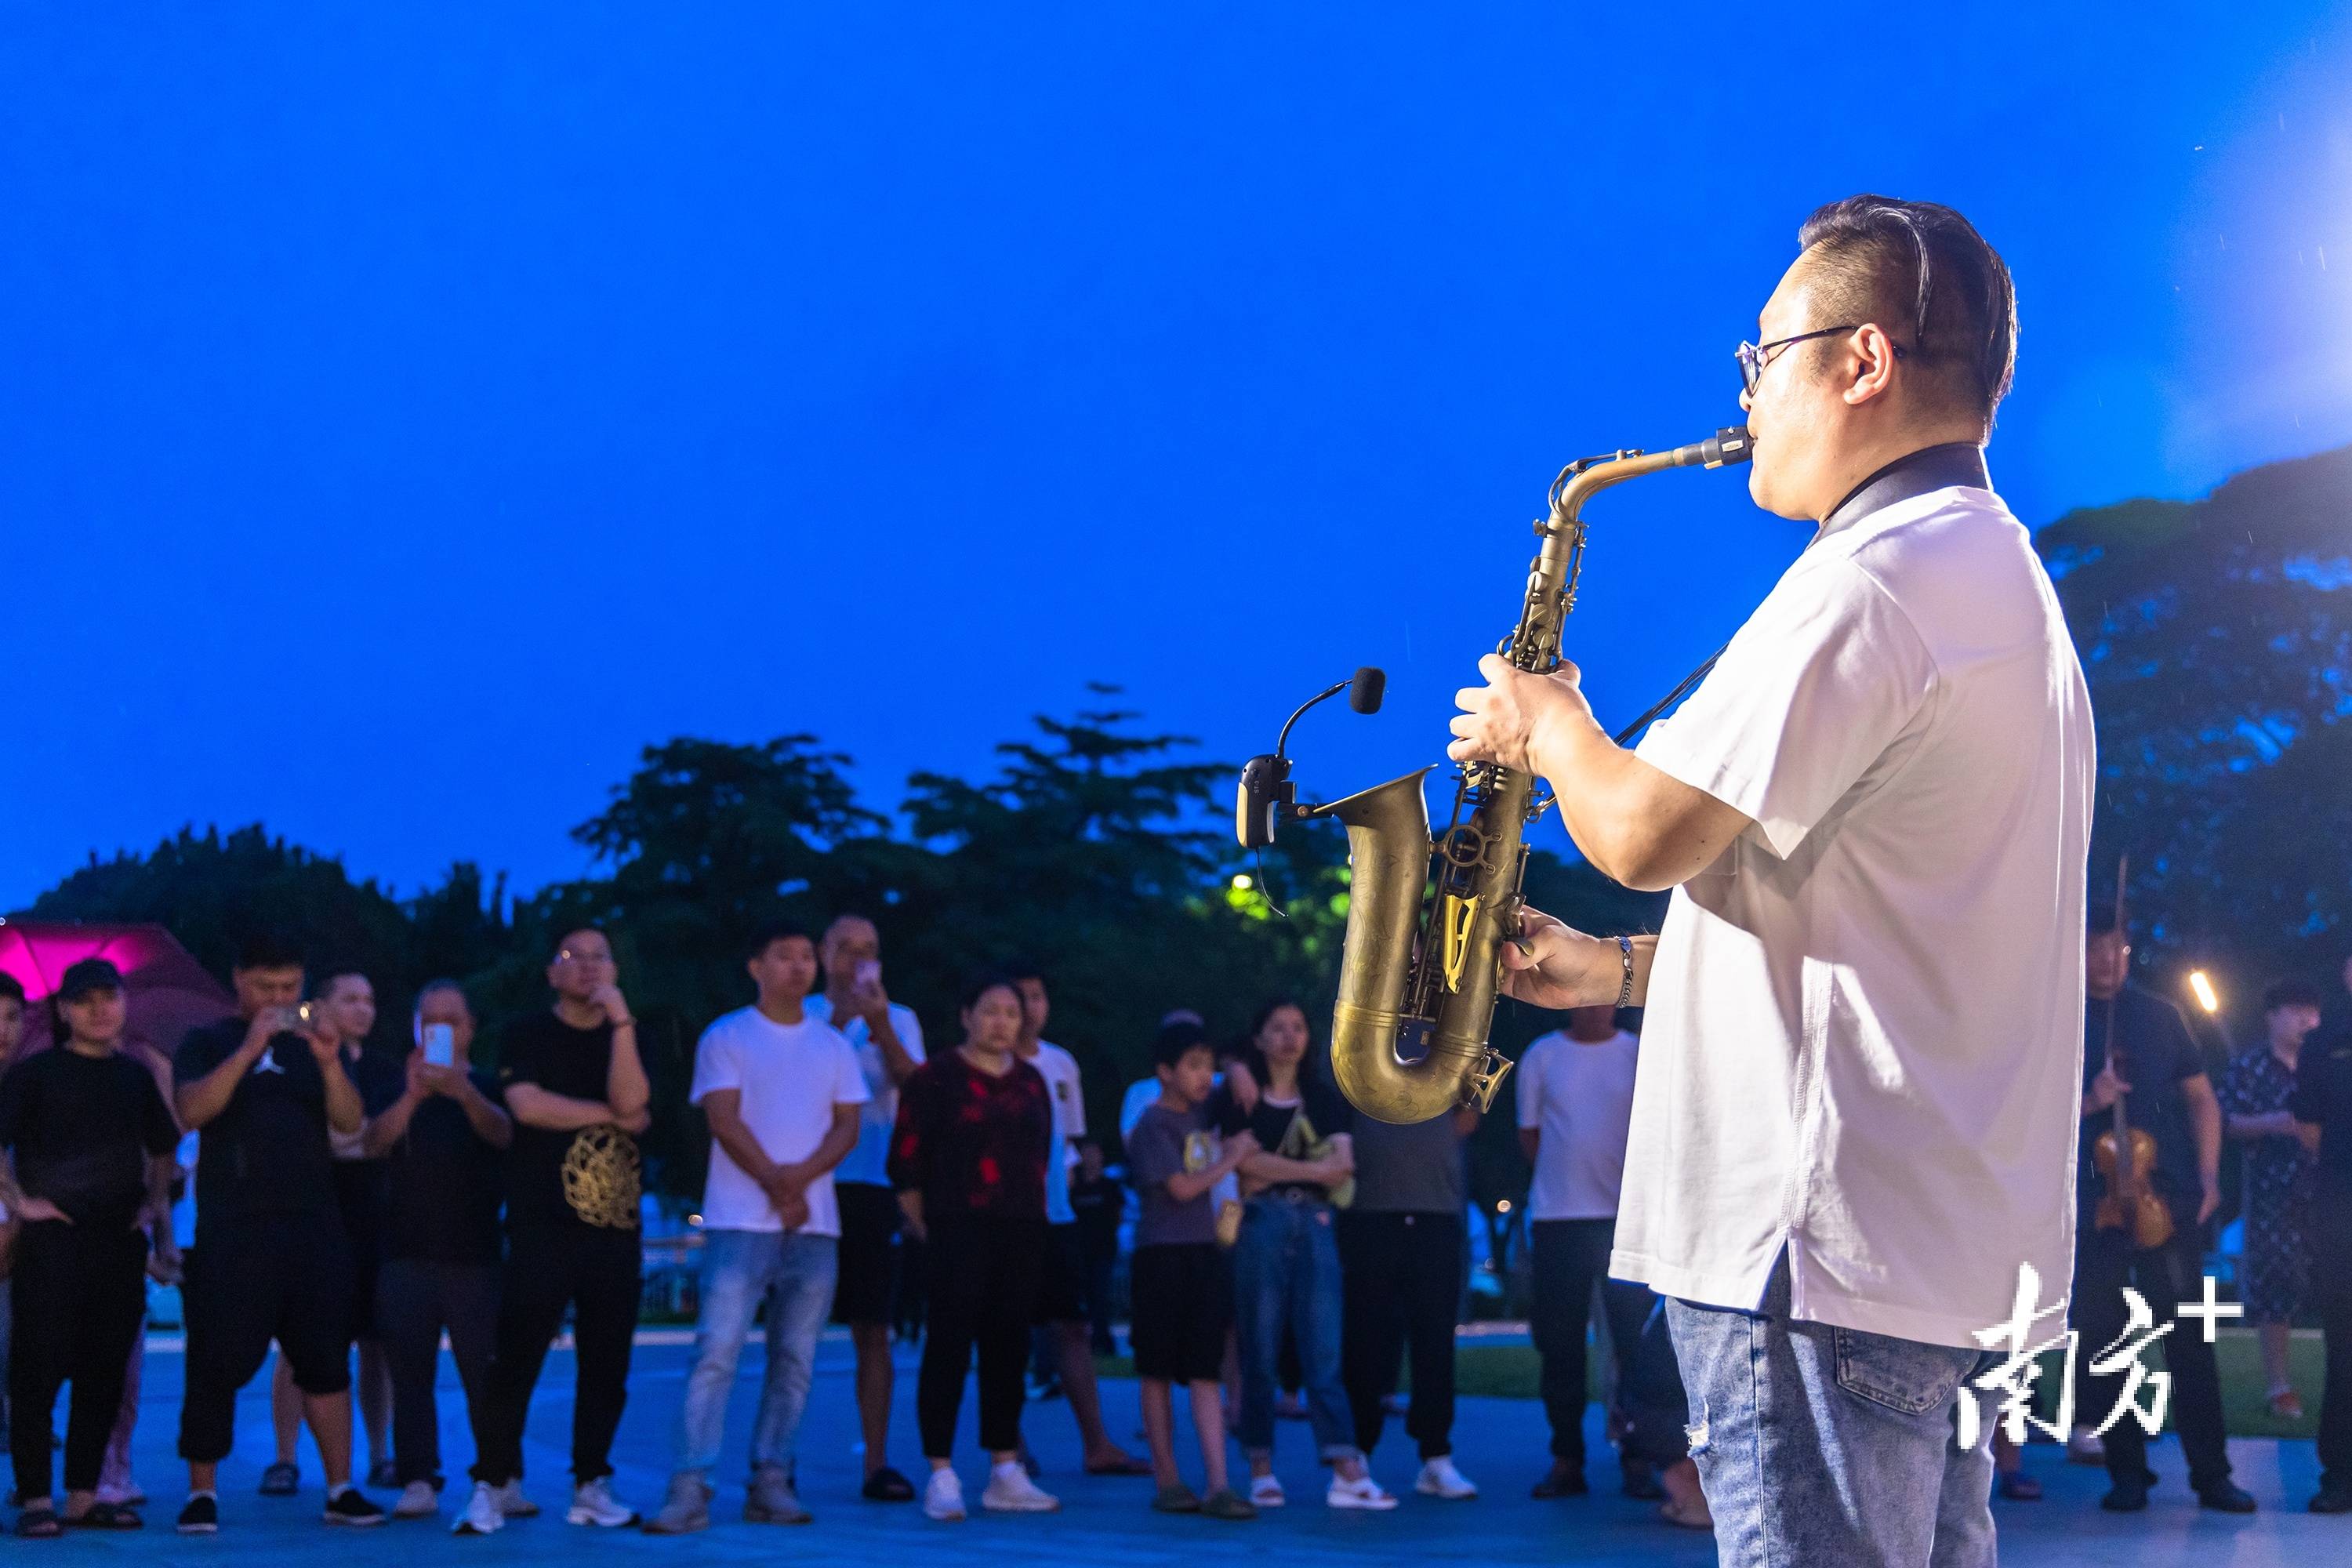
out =
{"type": "Polygon", "coordinates": [[[0,1077],[0,1145],[16,1185],[75,1225],[129,1229],[146,1201],[146,1157],[179,1143],[155,1074],[136,1058],[54,1046],[0,1077]]]}

